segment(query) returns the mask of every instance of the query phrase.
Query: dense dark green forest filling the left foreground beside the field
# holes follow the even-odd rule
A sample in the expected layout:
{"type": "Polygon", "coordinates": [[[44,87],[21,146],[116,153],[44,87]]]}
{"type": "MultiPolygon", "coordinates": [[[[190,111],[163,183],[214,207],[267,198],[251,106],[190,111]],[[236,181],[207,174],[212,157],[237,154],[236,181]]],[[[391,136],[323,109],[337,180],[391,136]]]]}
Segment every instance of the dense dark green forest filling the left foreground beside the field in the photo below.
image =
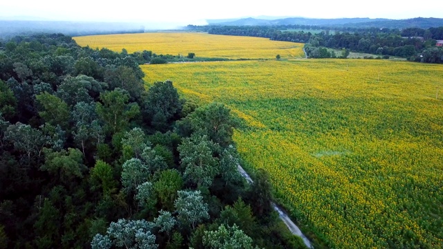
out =
{"type": "Polygon", "coordinates": [[[0,47],[0,248],[304,247],[266,172],[237,172],[230,110],[145,89],[148,51],[60,34],[0,47]]]}

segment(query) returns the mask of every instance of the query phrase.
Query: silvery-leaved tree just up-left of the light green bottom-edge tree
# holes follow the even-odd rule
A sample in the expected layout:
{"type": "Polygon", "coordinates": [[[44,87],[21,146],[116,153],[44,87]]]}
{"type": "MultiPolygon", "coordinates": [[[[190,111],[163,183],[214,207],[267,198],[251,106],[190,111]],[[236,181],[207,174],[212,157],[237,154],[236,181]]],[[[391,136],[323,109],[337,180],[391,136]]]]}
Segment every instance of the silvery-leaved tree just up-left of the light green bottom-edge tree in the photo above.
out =
{"type": "Polygon", "coordinates": [[[197,223],[209,219],[208,204],[204,203],[200,191],[179,190],[177,194],[174,206],[183,225],[191,225],[193,230],[197,223]]]}

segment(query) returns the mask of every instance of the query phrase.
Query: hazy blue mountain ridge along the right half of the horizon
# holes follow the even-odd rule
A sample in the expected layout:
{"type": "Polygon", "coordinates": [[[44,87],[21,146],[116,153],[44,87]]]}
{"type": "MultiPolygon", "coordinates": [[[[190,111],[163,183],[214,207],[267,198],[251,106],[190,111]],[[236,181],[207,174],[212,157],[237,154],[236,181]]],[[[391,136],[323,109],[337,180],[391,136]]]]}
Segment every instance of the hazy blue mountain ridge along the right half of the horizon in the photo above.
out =
{"type": "Polygon", "coordinates": [[[237,19],[235,21],[217,20],[212,25],[219,26],[278,26],[278,25],[309,25],[309,26],[329,26],[329,27],[353,27],[353,28],[431,28],[443,26],[443,19],[422,18],[413,19],[370,19],[370,18],[337,18],[337,19],[311,19],[303,17],[289,17],[282,19],[255,19],[252,17],[237,19]]]}

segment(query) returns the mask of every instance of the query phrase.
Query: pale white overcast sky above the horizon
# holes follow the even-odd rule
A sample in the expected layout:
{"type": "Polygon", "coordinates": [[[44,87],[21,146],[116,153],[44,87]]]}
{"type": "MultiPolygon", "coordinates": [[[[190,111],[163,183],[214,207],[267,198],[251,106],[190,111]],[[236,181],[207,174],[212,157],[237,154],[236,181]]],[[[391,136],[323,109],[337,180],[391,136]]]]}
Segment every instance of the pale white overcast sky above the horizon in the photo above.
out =
{"type": "Polygon", "coordinates": [[[443,1],[344,0],[125,0],[1,1],[0,17],[37,17],[55,21],[134,21],[151,24],[206,24],[206,19],[242,17],[443,18],[443,1]],[[414,4],[410,4],[414,3],[414,4]]]}

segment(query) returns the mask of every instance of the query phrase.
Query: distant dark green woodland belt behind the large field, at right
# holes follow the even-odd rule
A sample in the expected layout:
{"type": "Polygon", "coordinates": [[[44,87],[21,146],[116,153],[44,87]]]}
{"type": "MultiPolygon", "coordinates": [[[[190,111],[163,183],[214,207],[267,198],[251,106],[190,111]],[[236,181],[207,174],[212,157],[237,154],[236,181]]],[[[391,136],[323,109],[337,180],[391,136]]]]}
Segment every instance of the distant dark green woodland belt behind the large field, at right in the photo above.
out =
{"type": "MultiPolygon", "coordinates": [[[[195,27],[190,27],[195,28],[195,27]]],[[[443,27],[439,28],[337,28],[312,26],[210,26],[205,28],[215,35],[242,35],[266,37],[275,41],[301,42],[309,57],[340,57],[334,53],[322,53],[322,48],[348,49],[352,52],[370,53],[380,57],[405,57],[410,61],[443,63],[443,48],[435,46],[443,39],[443,27]],[[305,31],[289,31],[306,28],[305,31]],[[322,29],[317,34],[310,29],[322,29]]],[[[325,50],[323,50],[325,51],[325,50]]]]}

